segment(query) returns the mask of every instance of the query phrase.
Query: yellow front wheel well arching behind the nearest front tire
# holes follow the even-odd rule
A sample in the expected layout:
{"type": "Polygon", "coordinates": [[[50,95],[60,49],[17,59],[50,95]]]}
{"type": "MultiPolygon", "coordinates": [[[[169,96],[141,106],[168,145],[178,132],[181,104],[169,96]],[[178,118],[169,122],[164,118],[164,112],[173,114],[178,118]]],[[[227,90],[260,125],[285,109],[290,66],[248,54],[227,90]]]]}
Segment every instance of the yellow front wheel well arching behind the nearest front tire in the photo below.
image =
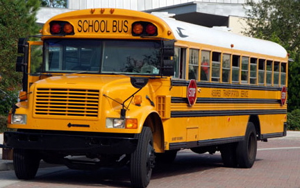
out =
{"type": "Polygon", "coordinates": [[[156,113],[151,113],[144,121],[144,126],[148,126],[152,130],[153,134],[153,145],[156,152],[163,152],[165,150],[164,144],[164,132],[163,132],[163,122],[156,113]]]}

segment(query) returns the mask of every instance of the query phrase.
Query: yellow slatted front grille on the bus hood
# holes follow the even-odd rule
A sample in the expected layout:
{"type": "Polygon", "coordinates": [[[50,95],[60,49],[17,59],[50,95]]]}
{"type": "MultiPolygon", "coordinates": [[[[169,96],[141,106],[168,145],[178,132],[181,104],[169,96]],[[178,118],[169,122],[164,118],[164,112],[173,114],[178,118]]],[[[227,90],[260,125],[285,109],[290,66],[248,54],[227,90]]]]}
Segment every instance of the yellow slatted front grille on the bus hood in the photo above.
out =
{"type": "Polygon", "coordinates": [[[38,88],[35,114],[98,117],[99,90],[38,88]]]}

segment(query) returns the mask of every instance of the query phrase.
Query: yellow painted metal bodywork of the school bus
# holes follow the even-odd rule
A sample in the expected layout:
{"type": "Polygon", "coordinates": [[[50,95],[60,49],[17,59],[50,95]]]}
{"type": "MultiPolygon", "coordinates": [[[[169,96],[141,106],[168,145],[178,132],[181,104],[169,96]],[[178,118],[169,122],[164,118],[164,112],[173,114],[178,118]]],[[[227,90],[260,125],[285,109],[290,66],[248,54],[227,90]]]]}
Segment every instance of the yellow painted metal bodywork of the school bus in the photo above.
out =
{"type": "MultiPolygon", "coordinates": [[[[47,38],[102,38],[102,39],[126,39],[141,40],[140,37],[131,35],[130,27],[136,21],[152,22],[158,26],[158,36],[174,40],[171,29],[158,17],[136,12],[132,10],[115,9],[113,13],[109,8],[94,10],[77,10],[67,12],[49,19],[42,29],[42,40],[47,38]],[[101,19],[100,19],[101,18],[101,19]],[[74,26],[74,35],[49,36],[49,23],[52,21],[67,21],[74,26]],[[98,26],[97,24],[102,25],[98,26]],[[91,25],[89,27],[89,24],[91,25]],[[99,28],[98,28],[99,27],[99,28]],[[116,30],[117,29],[117,30],[116,30]]],[[[156,38],[142,38],[142,40],[157,40],[156,38]]],[[[31,42],[31,45],[42,42],[31,42]]],[[[177,41],[176,46],[187,49],[197,48],[221,53],[240,54],[247,57],[265,58],[278,62],[287,62],[288,58],[276,58],[262,54],[235,51],[234,49],[222,49],[206,44],[177,41]]],[[[187,58],[188,62],[188,58],[187,58]]],[[[30,62],[29,62],[30,64],[30,62]]],[[[30,65],[29,65],[30,66],[30,65]]],[[[188,74],[188,63],[186,64],[188,74]]],[[[17,105],[16,114],[26,114],[25,125],[9,124],[8,128],[24,128],[37,130],[67,130],[95,133],[140,133],[144,121],[149,114],[160,116],[151,124],[154,131],[154,147],[156,152],[169,149],[170,143],[196,142],[199,140],[222,139],[230,137],[242,137],[245,133],[249,115],[222,115],[208,117],[172,117],[171,112],[206,112],[210,110],[286,110],[287,105],[278,103],[235,103],[235,99],[264,99],[280,100],[281,91],[258,89],[224,89],[220,83],[212,87],[198,87],[197,98],[201,100],[219,99],[218,103],[196,103],[189,106],[188,103],[172,103],[172,98],[186,99],[187,85],[174,86],[172,82],[182,81],[171,77],[149,79],[149,83],[138,93],[142,103],[135,105],[128,100],[125,105],[127,118],[138,119],[137,129],[106,128],[107,118],[119,118],[122,105],[131,94],[137,91],[131,85],[130,78],[122,75],[54,75],[54,76],[28,76],[28,101],[22,101],[17,105]],[[151,105],[151,101],[155,106],[151,105]],[[55,99],[55,100],[53,100],[55,99]],[[113,99],[113,100],[112,100],[113,99]],[[233,99],[232,103],[222,102],[225,99],[233,99]],[[75,102],[74,102],[75,101],[75,102]],[[159,130],[160,121],[163,123],[159,130]],[[88,126],[68,126],[69,123],[88,126]],[[164,143],[160,144],[160,142],[164,143]]],[[[200,80],[197,80],[201,83],[200,80]]],[[[233,84],[234,85],[234,84],[233,84]]],[[[236,84],[238,85],[238,84],[236,84]]],[[[249,85],[250,86],[250,85],[249,85]]],[[[253,86],[253,85],[251,85],[253,86]]],[[[278,85],[277,87],[281,87],[278,85]]],[[[287,82],[285,83],[287,86],[287,82]]],[[[264,87],[273,87],[265,85],[264,87]]],[[[236,88],[236,87],[234,87],[236,88]]],[[[262,134],[283,132],[283,123],[286,122],[286,114],[258,115],[262,134]]]]}

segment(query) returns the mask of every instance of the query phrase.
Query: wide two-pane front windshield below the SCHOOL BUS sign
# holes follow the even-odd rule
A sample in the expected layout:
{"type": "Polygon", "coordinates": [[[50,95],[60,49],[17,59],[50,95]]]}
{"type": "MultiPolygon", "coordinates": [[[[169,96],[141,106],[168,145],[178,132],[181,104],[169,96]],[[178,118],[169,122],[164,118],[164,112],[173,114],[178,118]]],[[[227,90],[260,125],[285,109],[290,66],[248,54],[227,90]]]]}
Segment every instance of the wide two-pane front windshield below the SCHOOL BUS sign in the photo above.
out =
{"type": "Polygon", "coordinates": [[[160,41],[44,40],[45,72],[158,75],[160,41]]]}

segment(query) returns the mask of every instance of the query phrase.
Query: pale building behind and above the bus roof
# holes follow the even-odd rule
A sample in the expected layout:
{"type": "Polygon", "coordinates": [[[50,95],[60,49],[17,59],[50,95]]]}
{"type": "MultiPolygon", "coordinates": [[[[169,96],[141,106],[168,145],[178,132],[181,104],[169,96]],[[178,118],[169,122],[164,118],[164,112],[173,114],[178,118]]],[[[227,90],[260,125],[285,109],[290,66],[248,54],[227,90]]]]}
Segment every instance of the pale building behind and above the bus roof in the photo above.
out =
{"type": "MultiPolygon", "coordinates": [[[[258,0],[257,0],[258,1],[258,0]]],[[[68,0],[67,8],[41,8],[38,23],[63,12],[85,8],[125,8],[144,12],[169,12],[183,22],[216,27],[242,34],[247,28],[246,0],[68,0]]]]}

